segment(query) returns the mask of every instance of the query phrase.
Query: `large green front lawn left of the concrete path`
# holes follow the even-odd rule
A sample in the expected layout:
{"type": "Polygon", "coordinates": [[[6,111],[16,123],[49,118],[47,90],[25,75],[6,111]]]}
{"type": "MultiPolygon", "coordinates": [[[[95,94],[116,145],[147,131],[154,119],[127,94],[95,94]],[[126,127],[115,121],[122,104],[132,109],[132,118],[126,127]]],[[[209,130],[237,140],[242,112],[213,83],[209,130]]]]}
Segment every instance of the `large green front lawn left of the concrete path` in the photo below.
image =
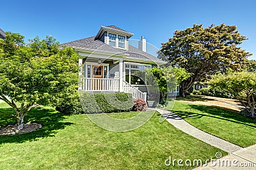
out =
{"type": "MultiPolygon", "coordinates": [[[[1,111],[11,111],[0,104],[1,111]]],[[[126,118],[138,113],[112,113],[126,118]]],[[[166,167],[172,159],[211,159],[227,153],[185,134],[155,115],[142,127],[111,132],[93,124],[86,115],[62,115],[52,108],[31,110],[26,122],[44,127],[15,136],[0,136],[0,169],[191,169],[166,167]]],[[[0,115],[0,126],[15,119],[0,115]]]]}

